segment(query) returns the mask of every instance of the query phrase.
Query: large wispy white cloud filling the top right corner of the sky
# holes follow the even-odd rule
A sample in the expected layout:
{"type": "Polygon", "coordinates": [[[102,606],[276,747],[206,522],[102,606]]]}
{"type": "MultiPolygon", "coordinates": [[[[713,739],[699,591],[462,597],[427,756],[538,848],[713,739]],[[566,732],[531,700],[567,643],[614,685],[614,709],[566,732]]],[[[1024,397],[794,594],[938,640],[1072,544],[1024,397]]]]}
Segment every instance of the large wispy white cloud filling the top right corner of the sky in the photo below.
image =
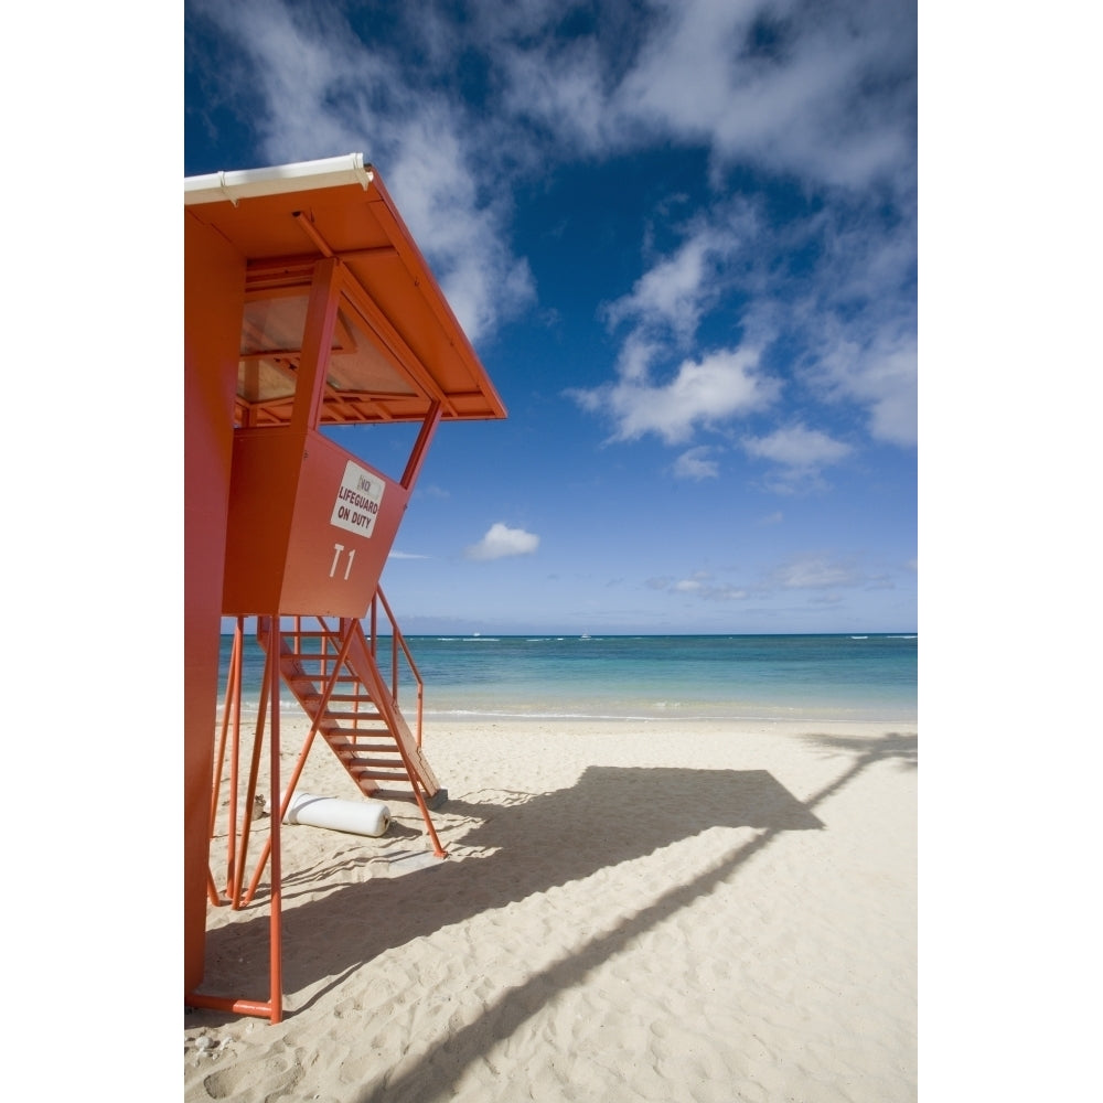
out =
{"type": "Polygon", "coordinates": [[[914,71],[913,4],[651,7],[639,38],[625,40],[613,17],[569,43],[555,33],[561,12],[533,9],[546,21],[529,19],[524,36],[493,43],[511,110],[589,153],[675,141],[706,147],[718,164],[847,188],[911,186],[914,87],[900,74],[914,71]]]}

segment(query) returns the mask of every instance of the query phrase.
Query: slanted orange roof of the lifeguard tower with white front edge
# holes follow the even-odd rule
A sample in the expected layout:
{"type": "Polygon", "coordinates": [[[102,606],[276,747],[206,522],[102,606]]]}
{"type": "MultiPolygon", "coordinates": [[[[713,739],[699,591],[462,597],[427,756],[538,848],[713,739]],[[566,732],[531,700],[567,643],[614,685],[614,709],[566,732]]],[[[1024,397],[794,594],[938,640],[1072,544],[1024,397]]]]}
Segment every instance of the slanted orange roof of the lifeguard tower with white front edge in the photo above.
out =
{"type": "Polygon", "coordinates": [[[247,261],[238,416],[290,417],[314,264],[336,257],[343,296],[322,421],[504,418],[505,407],[379,174],[362,153],[184,179],[186,217],[247,261]]]}

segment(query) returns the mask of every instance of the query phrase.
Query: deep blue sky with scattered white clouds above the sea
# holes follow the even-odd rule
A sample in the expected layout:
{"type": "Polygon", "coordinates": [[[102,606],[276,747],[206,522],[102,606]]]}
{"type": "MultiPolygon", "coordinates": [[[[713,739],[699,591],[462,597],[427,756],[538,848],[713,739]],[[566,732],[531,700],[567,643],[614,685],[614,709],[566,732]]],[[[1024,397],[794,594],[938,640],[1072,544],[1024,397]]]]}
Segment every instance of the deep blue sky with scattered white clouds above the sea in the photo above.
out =
{"type": "Polygon", "coordinates": [[[510,411],[438,431],[405,631],[917,629],[915,24],[185,4],[185,174],[362,151],[510,411]]]}

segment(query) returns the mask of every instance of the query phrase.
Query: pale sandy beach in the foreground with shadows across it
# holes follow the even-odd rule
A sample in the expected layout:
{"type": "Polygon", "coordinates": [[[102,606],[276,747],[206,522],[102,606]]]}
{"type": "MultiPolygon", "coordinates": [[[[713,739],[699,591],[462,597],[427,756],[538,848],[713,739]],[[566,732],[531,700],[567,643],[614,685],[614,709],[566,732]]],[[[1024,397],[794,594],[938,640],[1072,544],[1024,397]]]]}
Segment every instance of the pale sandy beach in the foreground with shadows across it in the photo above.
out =
{"type": "MultiPolygon", "coordinates": [[[[449,857],[397,802],[381,838],[285,827],[285,1019],[188,1010],[189,1103],[917,1097],[913,721],[425,747],[449,857]]],[[[355,799],[324,746],[300,788],[355,799]]],[[[266,896],[212,908],[203,989],[265,998],[267,932],[266,896]]]]}

